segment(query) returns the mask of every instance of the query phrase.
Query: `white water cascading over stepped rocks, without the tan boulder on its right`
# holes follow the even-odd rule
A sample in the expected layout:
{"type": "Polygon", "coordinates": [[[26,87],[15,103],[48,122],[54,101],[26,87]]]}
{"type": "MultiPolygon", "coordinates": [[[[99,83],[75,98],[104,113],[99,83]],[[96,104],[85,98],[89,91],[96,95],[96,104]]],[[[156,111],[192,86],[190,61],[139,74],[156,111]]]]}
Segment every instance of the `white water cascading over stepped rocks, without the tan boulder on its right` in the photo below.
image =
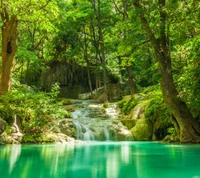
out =
{"type": "Polygon", "coordinates": [[[111,140],[109,128],[113,120],[118,120],[116,104],[104,109],[102,104],[84,101],[71,113],[78,140],[111,140]]]}

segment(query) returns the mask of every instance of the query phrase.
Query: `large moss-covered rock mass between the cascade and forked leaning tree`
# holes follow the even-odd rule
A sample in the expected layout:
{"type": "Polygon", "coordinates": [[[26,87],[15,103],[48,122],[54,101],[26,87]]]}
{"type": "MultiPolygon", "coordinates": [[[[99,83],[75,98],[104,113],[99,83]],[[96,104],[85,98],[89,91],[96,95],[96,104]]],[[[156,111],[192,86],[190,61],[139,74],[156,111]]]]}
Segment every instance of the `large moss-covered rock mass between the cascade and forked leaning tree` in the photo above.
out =
{"type": "Polygon", "coordinates": [[[125,96],[118,102],[118,107],[122,111],[122,123],[131,129],[136,140],[162,140],[168,134],[168,128],[173,127],[169,110],[157,87],[135,94],[134,98],[125,96]]]}

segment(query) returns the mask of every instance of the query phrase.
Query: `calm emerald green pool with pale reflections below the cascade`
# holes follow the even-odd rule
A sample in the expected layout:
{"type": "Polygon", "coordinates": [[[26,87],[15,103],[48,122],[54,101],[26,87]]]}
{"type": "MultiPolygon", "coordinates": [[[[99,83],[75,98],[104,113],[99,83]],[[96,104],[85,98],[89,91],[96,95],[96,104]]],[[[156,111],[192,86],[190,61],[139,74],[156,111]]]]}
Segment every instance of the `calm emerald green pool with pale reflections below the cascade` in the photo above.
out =
{"type": "Polygon", "coordinates": [[[200,178],[200,145],[6,145],[0,178],[200,178]]]}

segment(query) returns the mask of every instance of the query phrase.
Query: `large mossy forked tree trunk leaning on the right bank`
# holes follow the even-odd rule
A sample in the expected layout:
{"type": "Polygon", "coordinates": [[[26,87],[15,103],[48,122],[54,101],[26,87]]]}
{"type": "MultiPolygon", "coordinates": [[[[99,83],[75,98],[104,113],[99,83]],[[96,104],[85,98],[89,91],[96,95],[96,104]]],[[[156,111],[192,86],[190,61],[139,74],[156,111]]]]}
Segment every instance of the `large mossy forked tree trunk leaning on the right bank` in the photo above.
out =
{"type": "MultiPolygon", "coordinates": [[[[166,14],[165,0],[159,0],[160,5],[160,37],[155,38],[145,15],[140,11],[140,21],[154,49],[156,60],[161,72],[161,89],[164,100],[174,116],[173,122],[178,129],[181,142],[200,142],[200,123],[195,120],[186,103],[181,100],[174,85],[172,76],[171,56],[168,48],[168,39],[165,33],[166,14]]],[[[134,2],[136,9],[141,9],[138,1],[134,2]]]]}

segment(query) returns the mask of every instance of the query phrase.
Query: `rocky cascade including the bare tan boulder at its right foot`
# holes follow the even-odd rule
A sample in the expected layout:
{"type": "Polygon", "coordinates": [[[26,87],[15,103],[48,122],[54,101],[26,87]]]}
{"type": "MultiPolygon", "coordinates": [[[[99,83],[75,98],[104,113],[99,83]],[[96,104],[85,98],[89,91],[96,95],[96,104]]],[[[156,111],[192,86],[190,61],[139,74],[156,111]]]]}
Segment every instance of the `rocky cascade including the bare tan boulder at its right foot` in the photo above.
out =
{"type": "Polygon", "coordinates": [[[120,122],[120,111],[116,103],[107,108],[91,100],[76,101],[71,112],[76,129],[76,139],[92,140],[133,140],[131,132],[120,122]]]}

